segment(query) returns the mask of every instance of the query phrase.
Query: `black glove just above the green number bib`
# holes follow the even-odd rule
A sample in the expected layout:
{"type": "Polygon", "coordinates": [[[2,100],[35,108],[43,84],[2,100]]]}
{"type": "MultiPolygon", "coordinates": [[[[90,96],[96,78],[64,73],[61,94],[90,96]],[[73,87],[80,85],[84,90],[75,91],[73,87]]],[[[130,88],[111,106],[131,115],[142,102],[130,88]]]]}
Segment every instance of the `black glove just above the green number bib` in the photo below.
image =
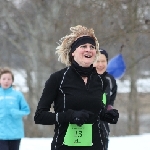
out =
{"type": "Polygon", "coordinates": [[[58,122],[70,122],[82,126],[87,122],[90,115],[93,115],[93,113],[87,110],[75,111],[69,109],[66,112],[58,113],[58,122]]]}

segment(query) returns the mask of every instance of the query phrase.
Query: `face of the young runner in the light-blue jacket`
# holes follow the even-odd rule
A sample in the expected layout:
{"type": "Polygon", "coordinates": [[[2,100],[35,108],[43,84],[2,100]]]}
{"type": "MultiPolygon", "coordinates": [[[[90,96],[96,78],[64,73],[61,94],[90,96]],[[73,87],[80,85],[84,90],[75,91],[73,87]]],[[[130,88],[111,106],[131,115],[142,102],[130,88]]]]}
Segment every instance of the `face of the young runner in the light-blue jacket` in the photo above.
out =
{"type": "Polygon", "coordinates": [[[0,77],[0,85],[3,89],[9,88],[13,83],[12,75],[10,73],[2,74],[0,77]]]}

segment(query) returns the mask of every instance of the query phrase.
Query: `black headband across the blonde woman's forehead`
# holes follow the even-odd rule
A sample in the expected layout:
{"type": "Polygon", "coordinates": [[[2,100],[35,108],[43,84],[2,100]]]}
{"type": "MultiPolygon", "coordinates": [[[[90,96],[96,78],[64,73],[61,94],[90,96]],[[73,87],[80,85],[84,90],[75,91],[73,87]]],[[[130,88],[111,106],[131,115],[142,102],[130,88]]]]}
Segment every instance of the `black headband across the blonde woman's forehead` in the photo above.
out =
{"type": "Polygon", "coordinates": [[[93,46],[96,46],[94,38],[92,38],[90,36],[82,36],[82,37],[79,37],[76,41],[74,41],[72,43],[71,53],[73,53],[76,50],[76,48],[78,48],[80,45],[84,45],[86,43],[90,43],[93,46]]]}

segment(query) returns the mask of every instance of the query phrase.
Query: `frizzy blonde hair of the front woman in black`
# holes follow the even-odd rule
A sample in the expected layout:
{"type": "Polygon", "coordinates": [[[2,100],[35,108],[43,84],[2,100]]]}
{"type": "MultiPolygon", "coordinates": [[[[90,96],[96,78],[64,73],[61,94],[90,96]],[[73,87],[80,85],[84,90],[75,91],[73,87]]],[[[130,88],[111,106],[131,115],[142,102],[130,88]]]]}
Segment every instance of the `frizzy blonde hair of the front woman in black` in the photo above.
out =
{"type": "Polygon", "coordinates": [[[72,31],[72,33],[66,35],[65,37],[62,37],[60,40],[61,43],[56,47],[56,54],[58,54],[58,61],[66,64],[66,66],[71,65],[71,61],[69,59],[71,45],[81,36],[90,36],[95,40],[96,54],[97,56],[99,55],[99,43],[92,28],[88,29],[87,27],[77,25],[75,27],[71,27],[70,31],[72,31]]]}

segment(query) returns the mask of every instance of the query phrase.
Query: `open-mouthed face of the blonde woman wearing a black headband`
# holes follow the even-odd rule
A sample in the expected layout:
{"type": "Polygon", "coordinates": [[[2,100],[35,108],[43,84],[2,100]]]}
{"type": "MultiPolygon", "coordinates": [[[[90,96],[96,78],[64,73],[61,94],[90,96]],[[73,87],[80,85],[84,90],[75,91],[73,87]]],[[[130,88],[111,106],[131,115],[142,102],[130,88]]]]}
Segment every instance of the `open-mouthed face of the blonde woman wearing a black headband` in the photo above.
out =
{"type": "Polygon", "coordinates": [[[86,43],[80,45],[72,53],[74,60],[82,67],[89,67],[93,64],[96,57],[96,49],[92,44],[86,43]]]}

